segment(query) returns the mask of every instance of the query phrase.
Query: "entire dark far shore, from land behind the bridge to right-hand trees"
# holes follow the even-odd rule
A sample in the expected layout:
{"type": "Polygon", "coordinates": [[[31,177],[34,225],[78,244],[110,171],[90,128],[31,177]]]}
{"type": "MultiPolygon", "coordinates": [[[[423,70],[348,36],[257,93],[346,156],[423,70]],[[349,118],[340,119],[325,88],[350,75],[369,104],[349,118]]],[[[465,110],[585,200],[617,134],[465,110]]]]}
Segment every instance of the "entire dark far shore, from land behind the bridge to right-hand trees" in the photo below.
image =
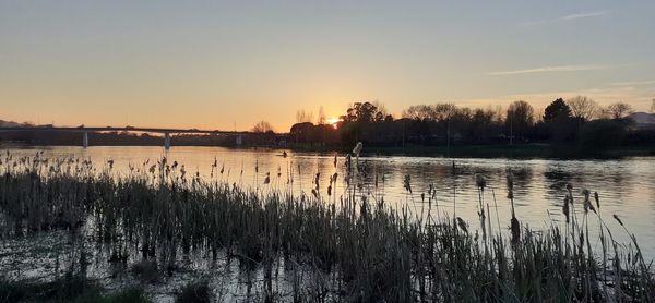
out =
{"type": "MultiPolygon", "coordinates": [[[[305,110],[296,113],[296,124],[288,133],[274,132],[266,121],[259,121],[250,132],[230,134],[175,134],[178,146],[282,147],[298,149],[342,149],[362,142],[377,150],[402,148],[405,153],[432,149],[440,155],[468,156],[466,149],[504,149],[502,156],[535,152],[534,146],[549,146],[529,156],[593,155],[599,148],[612,155],[655,155],[655,113],[636,113],[623,102],[602,107],[584,96],[558,98],[544,110],[519,100],[507,108],[488,106],[468,108],[455,104],[414,105],[397,117],[379,102],[355,102],[338,119],[326,119],[321,111],[314,121],[305,110]],[[634,119],[633,119],[634,118],[634,119]],[[561,148],[565,147],[565,148],[561,148]],[[443,150],[443,152],[441,152],[443,150]],[[545,150],[545,153],[544,153],[545,150]]],[[[4,123],[8,126],[21,125],[4,123]]],[[[2,132],[0,142],[32,145],[80,145],[80,133],[61,131],[2,132]]],[[[52,125],[41,125],[47,129],[52,125]]],[[[1,128],[1,126],[0,126],[1,128]]],[[[158,134],[92,132],[91,145],[162,146],[158,134]]]]}

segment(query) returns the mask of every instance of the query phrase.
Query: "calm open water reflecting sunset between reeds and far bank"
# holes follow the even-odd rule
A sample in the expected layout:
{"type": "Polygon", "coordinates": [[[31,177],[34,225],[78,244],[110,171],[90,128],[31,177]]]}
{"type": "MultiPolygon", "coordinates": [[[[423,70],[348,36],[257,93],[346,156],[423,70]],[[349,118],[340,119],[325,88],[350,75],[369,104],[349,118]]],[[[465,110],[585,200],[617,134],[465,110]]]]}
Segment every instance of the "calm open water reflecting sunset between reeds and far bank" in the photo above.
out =
{"type": "MultiPolygon", "coordinates": [[[[315,189],[314,180],[319,173],[318,194],[326,201],[338,198],[345,189],[345,155],[337,153],[286,150],[288,156],[283,157],[283,150],[277,149],[222,147],[172,147],[168,152],[162,147],[0,147],[0,152],[7,150],[14,156],[32,156],[43,150],[44,156],[50,158],[88,158],[96,167],[112,160],[119,175],[127,174],[129,167],[146,169],[153,161],[167,157],[169,162],[178,161],[184,165],[189,174],[198,173],[200,178],[307,195],[315,189]],[[214,162],[216,168],[212,168],[214,162]],[[269,184],[264,184],[266,173],[269,184]],[[337,185],[329,196],[327,185],[334,173],[338,173],[337,185]]],[[[478,227],[479,198],[475,174],[486,178],[484,202],[489,204],[492,218],[495,205],[498,205],[499,219],[507,227],[511,216],[507,198],[508,171],[512,171],[515,180],[516,217],[537,230],[563,222],[562,205],[569,183],[573,186],[576,211],[582,218],[582,190],[588,189],[592,193],[598,192],[600,214],[615,237],[629,242],[612,215],[619,216],[635,233],[648,259],[655,256],[655,158],[562,160],[378,156],[365,146],[359,161],[366,167],[360,185],[370,193],[369,199],[383,199],[392,207],[408,206],[416,216],[425,216],[430,206],[431,211],[438,211],[440,216],[452,217],[454,210],[474,229],[478,227]],[[410,178],[412,194],[404,187],[406,175],[410,178]],[[428,204],[430,186],[436,191],[436,201],[431,201],[431,205],[428,204]],[[421,194],[425,194],[422,199],[421,194]]],[[[594,222],[590,225],[591,229],[597,228],[595,219],[594,222]]],[[[591,239],[597,242],[597,238],[591,239]]]]}

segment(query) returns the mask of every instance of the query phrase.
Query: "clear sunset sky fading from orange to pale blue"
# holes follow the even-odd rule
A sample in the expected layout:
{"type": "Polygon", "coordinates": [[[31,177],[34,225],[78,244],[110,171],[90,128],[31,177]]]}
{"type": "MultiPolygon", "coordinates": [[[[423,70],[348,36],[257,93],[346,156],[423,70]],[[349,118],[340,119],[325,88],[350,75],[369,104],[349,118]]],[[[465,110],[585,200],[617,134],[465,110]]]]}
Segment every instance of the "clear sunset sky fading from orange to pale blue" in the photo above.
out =
{"type": "Polygon", "coordinates": [[[288,131],[379,101],[647,111],[655,1],[0,0],[0,119],[288,131]]]}

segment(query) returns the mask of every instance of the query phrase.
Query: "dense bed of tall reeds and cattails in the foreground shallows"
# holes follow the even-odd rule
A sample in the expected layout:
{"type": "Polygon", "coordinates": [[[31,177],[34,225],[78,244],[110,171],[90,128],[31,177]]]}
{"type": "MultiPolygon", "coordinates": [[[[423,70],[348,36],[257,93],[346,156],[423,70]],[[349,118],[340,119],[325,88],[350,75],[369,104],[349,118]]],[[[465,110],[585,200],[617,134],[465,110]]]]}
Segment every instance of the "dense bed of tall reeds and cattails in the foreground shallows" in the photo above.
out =
{"type": "MultiPolygon", "coordinates": [[[[352,167],[350,161],[338,198],[334,193],[323,198],[318,181],[310,196],[207,181],[188,175],[183,166],[165,158],[117,178],[110,166],[97,170],[85,160],[7,155],[0,172],[0,208],[10,221],[3,226],[5,237],[60,228],[75,232],[86,223],[92,239],[109,247],[108,262],[124,263],[139,255],[133,271],[147,271],[147,277],[174,275],[179,254],[216,258],[226,253],[246,271],[263,270],[265,301],[281,295],[273,287],[281,259],[291,268],[312,270],[311,282],[294,280],[295,301],[655,299],[651,264],[643,259],[634,235],[626,228],[622,232],[633,243],[617,243],[599,204],[590,213],[582,204],[575,206],[572,195],[565,202],[572,219],[564,230],[551,225],[533,231],[512,214],[512,221],[504,222],[512,227],[511,241],[505,242],[498,213],[498,226],[492,227],[484,179],[478,183],[479,237],[461,218],[448,218],[437,204],[432,207],[431,193],[427,216],[413,215],[407,206],[392,209],[383,199],[362,194],[357,178],[367,173],[366,166],[352,167]],[[607,232],[599,239],[602,252],[592,251],[590,244],[594,217],[607,232]]],[[[336,184],[336,174],[334,179],[336,184]]],[[[414,199],[410,179],[406,182],[414,199]]],[[[513,183],[509,186],[513,204],[511,187],[513,183]]],[[[80,251],[75,256],[81,265],[80,251]]],[[[211,292],[205,286],[184,288],[180,295],[205,298],[211,292]]]]}

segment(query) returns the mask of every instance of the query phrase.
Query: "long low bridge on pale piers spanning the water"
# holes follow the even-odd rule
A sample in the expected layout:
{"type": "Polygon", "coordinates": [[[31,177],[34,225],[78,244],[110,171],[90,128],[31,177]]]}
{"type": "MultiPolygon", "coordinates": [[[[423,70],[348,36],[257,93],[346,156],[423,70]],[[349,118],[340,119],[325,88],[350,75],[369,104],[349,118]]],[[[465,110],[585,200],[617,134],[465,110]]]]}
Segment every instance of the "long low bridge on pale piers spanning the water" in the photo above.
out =
{"type": "Polygon", "coordinates": [[[164,148],[170,149],[170,134],[216,134],[216,135],[236,135],[237,145],[242,144],[242,136],[249,134],[249,132],[230,132],[230,131],[218,131],[218,130],[198,130],[198,129],[159,129],[159,128],[68,128],[68,126],[15,126],[15,128],[0,128],[0,133],[9,132],[74,132],[82,134],[82,146],[88,147],[88,133],[90,132],[141,132],[141,133],[158,133],[164,134],[164,148]]]}

